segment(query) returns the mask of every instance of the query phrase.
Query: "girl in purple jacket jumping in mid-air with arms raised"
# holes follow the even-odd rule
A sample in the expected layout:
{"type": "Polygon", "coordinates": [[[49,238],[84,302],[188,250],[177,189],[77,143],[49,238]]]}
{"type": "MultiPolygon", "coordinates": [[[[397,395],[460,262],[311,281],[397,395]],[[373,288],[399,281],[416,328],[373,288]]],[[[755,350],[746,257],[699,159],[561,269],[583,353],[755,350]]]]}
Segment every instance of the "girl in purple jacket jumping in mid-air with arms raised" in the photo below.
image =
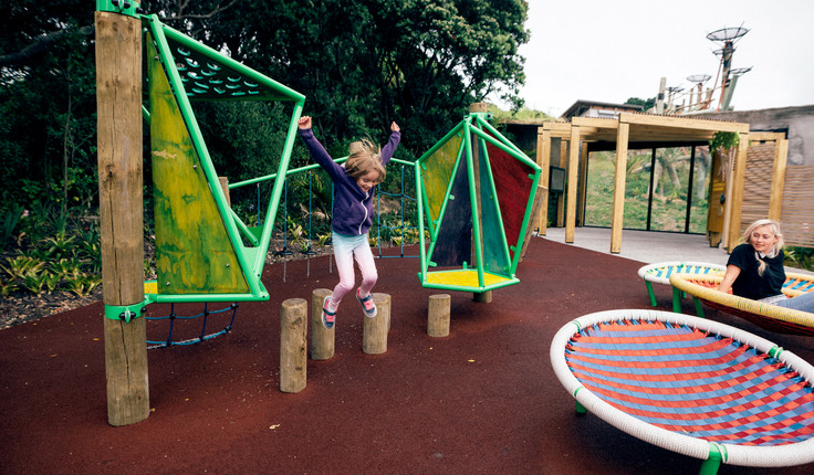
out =
{"type": "Polygon", "coordinates": [[[354,258],[362,272],[362,284],[356,289],[356,299],[362,304],[365,316],[373,318],[376,316],[376,305],[371,291],[378,278],[367,239],[373,223],[373,193],[375,187],[385,179],[385,167],[398,147],[401,129],[395,122],[390,124],[390,138],[380,152],[369,140],[351,144],[351,155],[344,166],[341,166],[331,159],[314,137],[311,117],[303,116],[298,124],[300,137],[305,141],[314,161],[327,171],[334,183],[331,240],[340,283],[322,304],[322,325],[327,329],[333,328],[342,298],[354,289],[354,258]]]}

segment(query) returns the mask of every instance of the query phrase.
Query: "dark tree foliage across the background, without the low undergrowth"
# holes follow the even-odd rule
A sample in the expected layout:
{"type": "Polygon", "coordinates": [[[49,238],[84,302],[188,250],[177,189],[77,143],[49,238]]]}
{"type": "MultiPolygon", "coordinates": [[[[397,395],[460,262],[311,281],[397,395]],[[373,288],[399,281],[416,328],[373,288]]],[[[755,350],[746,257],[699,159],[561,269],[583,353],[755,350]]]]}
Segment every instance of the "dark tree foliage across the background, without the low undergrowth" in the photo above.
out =
{"type": "MultiPolygon", "coordinates": [[[[148,13],[306,96],[328,149],[382,141],[396,120],[417,156],[467,112],[502,95],[518,107],[528,41],[521,0],[154,0],[148,13]]],[[[32,201],[95,207],[94,4],[9,0],[0,19],[0,211],[32,201]]],[[[223,167],[269,171],[278,107],[204,106],[223,167]]],[[[146,141],[148,144],[148,140],[146,141]]],[[[147,157],[148,154],[145,154],[147,157]]],[[[148,168],[148,165],[147,165],[148,168]]],[[[146,179],[148,180],[148,176],[146,179]]]]}

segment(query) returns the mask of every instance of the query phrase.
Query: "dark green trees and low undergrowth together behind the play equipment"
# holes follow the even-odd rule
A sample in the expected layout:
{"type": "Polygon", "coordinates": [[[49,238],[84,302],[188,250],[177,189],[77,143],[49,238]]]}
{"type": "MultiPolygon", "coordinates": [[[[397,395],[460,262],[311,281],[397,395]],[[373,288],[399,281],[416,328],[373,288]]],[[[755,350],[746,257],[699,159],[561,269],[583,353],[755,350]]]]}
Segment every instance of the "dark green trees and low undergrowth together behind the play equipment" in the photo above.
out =
{"type": "MultiPolygon", "coordinates": [[[[467,113],[500,96],[522,101],[529,39],[520,0],[144,1],[147,13],[306,96],[304,114],[335,157],[368,136],[383,142],[390,122],[403,129],[396,158],[414,160],[467,113]]],[[[86,294],[98,284],[95,2],[9,0],[0,18],[0,295],[86,294]]],[[[231,182],[272,173],[290,109],[274,104],[196,105],[219,175],[231,182]]],[[[149,127],[145,124],[145,243],[152,236],[149,127]]],[[[310,163],[298,141],[292,168],[310,163]]],[[[398,192],[395,167],[382,187],[398,192]]],[[[330,181],[292,177],[289,213],[280,213],[289,247],[325,241],[330,181]],[[311,188],[307,184],[311,181],[311,188]],[[303,213],[309,190],[313,210],[303,213]],[[313,218],[313,219],[309,219],[313,218]]],[[[405,182],[415,188],[411,177],[405,182]]],[[[243,217],[268,186],[233,193],[243,217]]],[[[415,196],[414,190],[406,190],[415,196]]],[[[396,198],[387,198],[394,208],[396,198]]],[[[388,225],[410,223],[407,204],[388,225]]],[[[262,208],[262,204],[261,207],[262,208]]],[[[260,213],[259,213],[260,211],[260,213]]],[[[414,231],[376,230],[390,243],[414,231]]],[[[372,232],[374,236],[374,232],[372,232]]],[[[415,236],[413,236],[415,238],[415,236]]],[[[274,251],[272,249],[272,251],[274,251]]],[[[149,276],[149,265],[146,264],[149,276]]]]}

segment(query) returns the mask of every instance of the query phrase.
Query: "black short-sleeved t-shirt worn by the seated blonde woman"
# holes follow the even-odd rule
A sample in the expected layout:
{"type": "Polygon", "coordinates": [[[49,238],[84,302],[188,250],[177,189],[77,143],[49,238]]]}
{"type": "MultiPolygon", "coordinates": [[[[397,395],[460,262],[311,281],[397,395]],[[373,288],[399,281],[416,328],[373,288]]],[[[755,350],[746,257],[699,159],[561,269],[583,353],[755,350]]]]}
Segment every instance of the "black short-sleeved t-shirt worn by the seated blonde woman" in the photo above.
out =
{"type": "Polygon", "coordinates": [[[732,251],[727,265],[737,265],[741,273],[732,283],[732,294],[759,300],[781,294],[780,289],[785,282],[785,270],[783,268],[783,251],[774,257],[763,257],[766,268],[763,276],[758,274],[761,258],[751,244],[740,244],[732,251]]]}

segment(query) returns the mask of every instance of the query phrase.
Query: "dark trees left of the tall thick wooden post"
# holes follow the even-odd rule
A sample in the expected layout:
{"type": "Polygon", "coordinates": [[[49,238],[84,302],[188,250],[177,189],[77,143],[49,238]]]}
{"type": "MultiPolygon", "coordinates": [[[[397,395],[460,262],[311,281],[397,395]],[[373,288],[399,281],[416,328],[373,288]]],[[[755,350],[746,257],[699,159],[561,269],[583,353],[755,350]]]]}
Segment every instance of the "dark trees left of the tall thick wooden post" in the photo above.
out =
{"type": "Polygon", "coordinates": [[[64,213],[95,190],[84,177],[95,163],[93,49],[79,22],[87,13],[79,1],[13,0],[0,20],[3,207],[50,196],[64,213]]]}

